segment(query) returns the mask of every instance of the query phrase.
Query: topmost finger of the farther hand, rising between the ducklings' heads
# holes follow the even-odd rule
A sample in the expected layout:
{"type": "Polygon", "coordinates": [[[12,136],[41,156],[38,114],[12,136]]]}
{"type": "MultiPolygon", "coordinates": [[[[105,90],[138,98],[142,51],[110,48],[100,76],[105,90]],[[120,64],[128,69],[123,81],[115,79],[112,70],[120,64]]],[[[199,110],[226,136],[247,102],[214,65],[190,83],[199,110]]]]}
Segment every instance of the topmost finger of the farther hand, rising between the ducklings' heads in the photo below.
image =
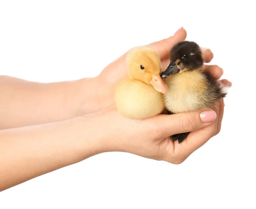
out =
{"type": "Polygon", "coordinates": [[[149,46],[156,49],[161,60],[163,60],[169,57],[169,52],[176,43],[183,41],[185,39],[186,30],[182,27],[179,30],[177,30],[173,36],[151,43],[149,44],[149,46]]]}

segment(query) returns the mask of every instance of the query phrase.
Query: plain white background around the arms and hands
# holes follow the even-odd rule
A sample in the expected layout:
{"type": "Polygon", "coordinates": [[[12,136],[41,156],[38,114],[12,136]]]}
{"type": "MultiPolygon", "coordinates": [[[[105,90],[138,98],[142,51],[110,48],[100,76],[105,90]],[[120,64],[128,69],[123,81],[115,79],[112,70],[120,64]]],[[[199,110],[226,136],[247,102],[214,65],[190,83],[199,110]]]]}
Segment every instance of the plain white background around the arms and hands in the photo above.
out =
{"type": "Polygon", "coordinates": [[[0,208],[256,208],[250,2],[0,0],[0,74],[39,82],[94,77],[128,49],[183,26],[233,83],[220,134],[182,164],[96,155],[1,192],[0,208]]]}

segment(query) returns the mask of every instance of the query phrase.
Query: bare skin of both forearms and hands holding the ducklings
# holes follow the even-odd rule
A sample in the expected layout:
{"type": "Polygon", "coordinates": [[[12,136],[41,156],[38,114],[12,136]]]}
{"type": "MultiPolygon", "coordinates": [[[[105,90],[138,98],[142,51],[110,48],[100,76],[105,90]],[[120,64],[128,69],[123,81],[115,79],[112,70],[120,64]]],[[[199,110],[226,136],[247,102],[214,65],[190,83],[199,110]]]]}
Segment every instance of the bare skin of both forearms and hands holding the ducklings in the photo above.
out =
{"type": "MultiPolygon", "coordinates": [[[[180,29],[150,44],[160,54],[163,69],[171,47],[185,38],[186,31],[180,29]]],[[[200,112],[144,120],[122,117],[113,91],[127,75],[125,56],[95,78],[36,83],[0,76],[0,191],[102,152],[129,152],[179,164],[220,132],[223,100],[204,117],[211,122],[204,123],[200,112]],[[169,136],[183,132],[191,132],[183,143],[172,142],[169,136]]],[[[212,58],[207,50],[204,62],[212,58]]],[[[217,79],[223,73],[218,66],[204,70],[217,79]]],[[[228,80],[222,82],[231,85],[228,80]]]]}

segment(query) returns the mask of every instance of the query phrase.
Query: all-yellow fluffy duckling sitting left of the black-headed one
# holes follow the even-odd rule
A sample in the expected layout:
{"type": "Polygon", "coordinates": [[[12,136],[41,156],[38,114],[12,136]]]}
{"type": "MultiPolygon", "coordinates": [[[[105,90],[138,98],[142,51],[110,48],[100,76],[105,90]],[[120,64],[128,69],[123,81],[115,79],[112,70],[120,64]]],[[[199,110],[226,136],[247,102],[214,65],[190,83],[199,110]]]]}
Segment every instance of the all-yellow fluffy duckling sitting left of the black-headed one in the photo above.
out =
{"type": "Polygon", "coordinates": [[[132,119],[160,114],[164,109],[163,93],[167,85],[160,77],[161,62],[148,46],[131,49],[127,54],[128,76],[115,89],[117,110],[132,119]]]}

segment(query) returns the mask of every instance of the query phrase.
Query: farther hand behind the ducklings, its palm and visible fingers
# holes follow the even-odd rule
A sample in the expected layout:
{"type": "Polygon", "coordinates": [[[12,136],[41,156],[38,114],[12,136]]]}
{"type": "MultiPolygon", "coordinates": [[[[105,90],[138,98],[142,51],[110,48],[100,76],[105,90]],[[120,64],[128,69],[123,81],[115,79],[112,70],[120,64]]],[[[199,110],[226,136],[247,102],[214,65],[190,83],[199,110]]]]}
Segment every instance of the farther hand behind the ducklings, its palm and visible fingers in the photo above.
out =
{"type": "MultiPolygon", "coordinates": [[[[160,55],[162,70],[166,69],[169,63],[170,49],[180,41],[186,39],[186,30],[178,30],[174,36],[166,38],[164,40],[149,44],[150,47],[156,49],[160,55]]],[[[210,49],[202,48],[204,53],[204,63],[209,63],[213,54],[210,49]]],[[[115,108],[114,102],[114,89],[116,84],[128,75],[128,66],[125,62],[127,52],[121,57],[110,63],[103,69],[103,71],[97,77],[95,82],[97,85],[97,104],[95,105],[95,111],[99,109],[115,108]]],[[[216,79],[219,79],[223,74],[223,69],[216,65],[205,65],[205,71],[208,71],[216,79]]]]}

